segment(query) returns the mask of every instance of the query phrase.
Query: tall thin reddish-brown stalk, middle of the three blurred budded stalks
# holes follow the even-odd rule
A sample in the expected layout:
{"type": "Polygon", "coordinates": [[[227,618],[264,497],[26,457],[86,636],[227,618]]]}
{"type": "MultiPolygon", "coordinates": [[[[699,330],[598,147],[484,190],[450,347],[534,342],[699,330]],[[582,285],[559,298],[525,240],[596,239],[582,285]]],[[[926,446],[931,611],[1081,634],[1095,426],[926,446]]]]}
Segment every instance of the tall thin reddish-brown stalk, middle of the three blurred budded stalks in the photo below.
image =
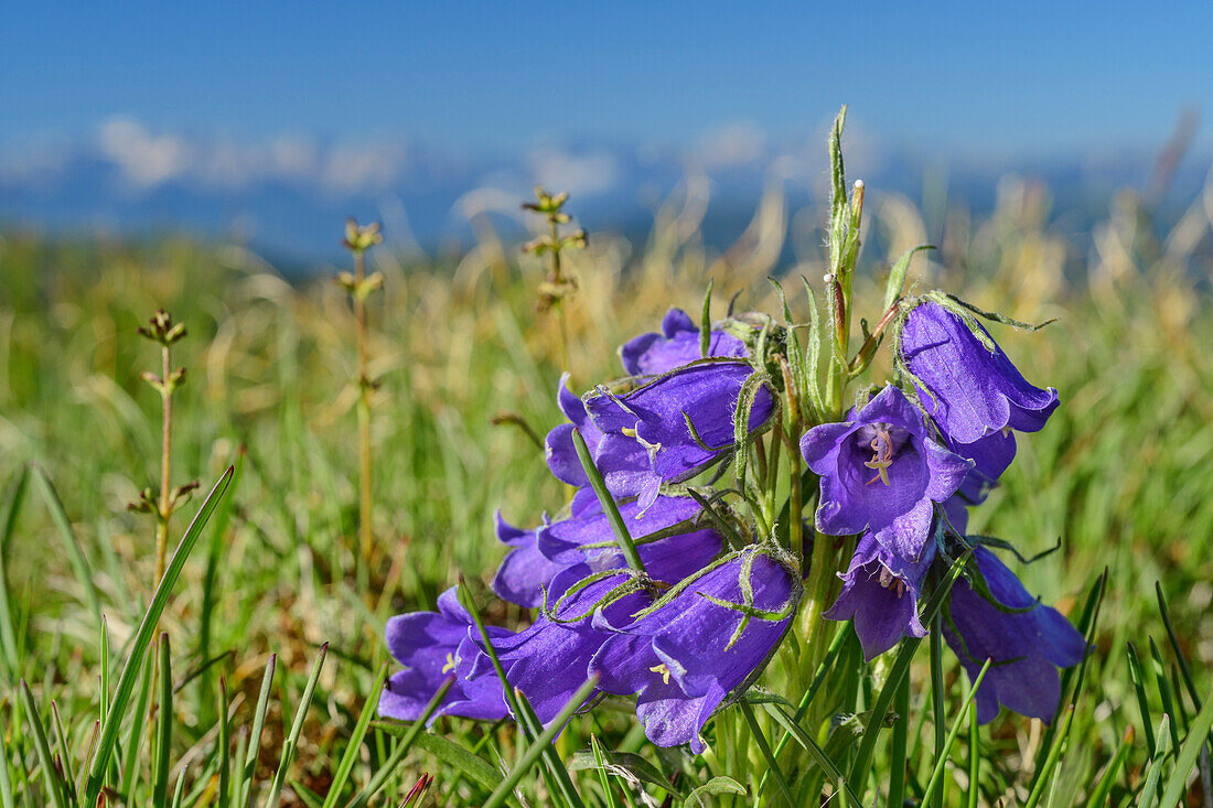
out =
{"type": "Polygon", "coordinates": [[[383,275],[366,274],[366,251],[383,240],[378,222],[359,227],[353,218],[346,221],[346,238],[342,246],[354,256],[353,274],[343,272],[337,283],[344,288],[354,303],[358,343],[358,534],[363,564],[369,570],[374,551],[371,533],[371,394],[378,389],[378,381],[370,375],[370,329],[366,323],[366,298],[383,286],[383,275]]]}

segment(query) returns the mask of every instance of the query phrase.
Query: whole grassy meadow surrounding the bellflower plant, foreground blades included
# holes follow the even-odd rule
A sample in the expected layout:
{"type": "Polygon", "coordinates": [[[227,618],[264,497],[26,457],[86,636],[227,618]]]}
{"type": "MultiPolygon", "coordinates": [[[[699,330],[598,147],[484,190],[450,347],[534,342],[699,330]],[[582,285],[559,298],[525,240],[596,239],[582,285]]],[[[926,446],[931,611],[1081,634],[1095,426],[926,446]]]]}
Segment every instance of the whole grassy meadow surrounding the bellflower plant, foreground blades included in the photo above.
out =
{"type": "MultiPolygon", "coordinates": [[[[120,679],[130,690],[109,722],[114,755],[97,769],[107,804],[395,806],[423,774],[433,783],[421,804],[483,804],[530,745],[508,723],[368,726],[388,661],[385,621],[432,609],[460,574],[489,622],[523,619],[488,588],[503,553],[492,514],[528,523],[565,502],[529,434],[562,420],[562,370],[575,388],[620,375],[616,346],[671,306],[697,312],[710,279],[717,301],[739,295],[739,309],[774,312],[767,278],[778,274],[804,315],[799,277],[818,283],[826,257],[824,232],[803,221],[826,216],[793,218],[773,192],[717,255],[704,246],[701,201],[672,197],[643,243],[591,233],[568,254],[577,290],[559,317],[536,306],[542,260],[488,218],[457,256],[399,255],[391,233],[369,251],[383,278],[368,300],[378,381],[369,564],[359,561],[357,323],[331,278],[348,267],[287,279],[239,246],[4,233],[0,804],[74,804],[120,679]],[[790,220],[803,232],[787,268],[790,220]],[[170,547],[234,473],[152,621],[167,639],[123,677],[156,581],[155,520],[127,503],[160,479],[161,402],[142,379],[160,372],[160,354],[136,332],[160,308],[188,329],[172,346],[187,376],[173,397],[171,479],[200,482],[169,523],[170,547]]],[[[1050,729],[1003,712],[972,733],[966,723],[938,804],[1213,806],[1201,742],[1213,687],[1211,201],[1206,193],[1162,227],[1124,190],[1077,251],[1032,183],[1008,178],[991,214],[957,206],[930,224],[910,200],[870,190],[856,298],[879,300],[892,258],[935,239],[911,264],[917,289],[946,284],[986,309],[1057,318],[1036,334],[998,332],[1063,404],[1049,428],[1020,440],[970,531],[1025,554],[1058,545],[1020,575],[1075,622],[1090,615],[1106,570],[1094,650],[1083,676],[1066,678],[1072,718],[1050,729]]],[[[894,655],[849,675],[861,705],[894,655]]],[[[902,724],[912,803],[936,768],[927,667],[923,649],[902,724]]],[[[968,682],[950,658],[941,677],[951,729],[968,682]]],[[[716,721],[740,721],[729,712],[716,721]]],[[[870,781],[852,784],[870,790],[867,804],[887,787],[892,735],[881,733],[870,781]]],[[[838,762],[855,755],[826,747],[838,762]]],[[[586,806],[785,804],[757,744],[730,768],[752,762],[753,776],[735,779],[742,793],[691,796],[702,764],[645,744],[626,704],[575,717],[554,749],[586,806]],[[600,766],[604,750],[617,766],[600,766]]],[[[511,804],[557,804],[557,766],[545,761],[511,804]]]]}

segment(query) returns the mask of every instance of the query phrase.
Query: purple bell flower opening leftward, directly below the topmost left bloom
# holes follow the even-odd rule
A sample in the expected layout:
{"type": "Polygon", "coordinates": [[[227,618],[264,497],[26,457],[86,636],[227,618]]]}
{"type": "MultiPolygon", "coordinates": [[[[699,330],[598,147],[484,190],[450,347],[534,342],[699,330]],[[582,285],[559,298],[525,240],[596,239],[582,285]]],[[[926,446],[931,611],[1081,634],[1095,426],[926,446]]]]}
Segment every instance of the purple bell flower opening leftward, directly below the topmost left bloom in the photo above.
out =
{"type": "MultiPolygon", "coordinates": [[[[753,374],[748,362],[706,359],[623,396],[604,387],[587,394],[586,411],[603,432],[603,442],[630,444],[647,455],[648,468],[628,478],[628,490],[613,493],[638,496],[643,510],[656,499],[662,483],[689,479],[725,457],[734,446],[734,415],[753,374]]],[[[759,383],[750,408],[750,432],[762,429],[774,411],[771,389],[759,383]]],[[[604,476],[606,468],[603,463],[604,476]]]]}

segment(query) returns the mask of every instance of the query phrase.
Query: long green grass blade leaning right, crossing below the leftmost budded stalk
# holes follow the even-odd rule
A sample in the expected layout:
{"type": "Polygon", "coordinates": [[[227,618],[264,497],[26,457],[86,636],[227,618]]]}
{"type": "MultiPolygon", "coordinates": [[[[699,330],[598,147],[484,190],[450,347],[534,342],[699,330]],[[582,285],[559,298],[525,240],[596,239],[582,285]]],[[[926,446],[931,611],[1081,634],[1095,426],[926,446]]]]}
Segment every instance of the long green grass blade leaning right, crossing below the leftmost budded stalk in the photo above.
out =
{"type": "Polygon", "coordinates": [[[198,537],[203,533],[203,527],[210,518],[211,512],[215,511],[215,506],[223,495],[223,491],[227,490],[227,484],[230,479],[232,467],[229,466],[228,470],[220,477],[218,482],[215,483],[211,493],[206,495],[206,500],[198,510],[197,516],[194,516],[194,520],[189,523],[186,535],[182,537],[181,544],[177,545],[177,550],[172,554],[169,569],[165,570],[164,577],[160,579],[160,584],[156,586],[155,593],[152,596],[152,604],[143,614],[143,620],[139,622],[138,631],[135,633],[135,641],[131,643],[131,655],[126,660],[126,666],[123,667],[121,676],[118,677],[118,689],[114,692],[114,700],[110,705],[109,715],[106,716],[106,722],[102,726],[101,740],[97,741],[97,755],[92,761],[92,768],[89,772],[89,778],[85,780],[82,801],[85,806],[97,804],[97,797],[101,793],[101,787],[104,780],[104,772],[109,767],[110,756],[114,753],[114,746],[118,742],[118,730],[123,723],[123,717],[126,715],[126,704],[130,701],[131,693],[135,690],[135,678],[138,676],[138,672],[143,666],[143,655],[147,653],[148,645],[152,644],[152,636],[155,633],[156,624],[160,621],[160,614],[169,603],[169,597],[172,594],[172,587],[177,582],[177,577],[181,575],[181,570],[186,565],[189,551],[193,550],[194,544],[198,542],[198,537]]]}

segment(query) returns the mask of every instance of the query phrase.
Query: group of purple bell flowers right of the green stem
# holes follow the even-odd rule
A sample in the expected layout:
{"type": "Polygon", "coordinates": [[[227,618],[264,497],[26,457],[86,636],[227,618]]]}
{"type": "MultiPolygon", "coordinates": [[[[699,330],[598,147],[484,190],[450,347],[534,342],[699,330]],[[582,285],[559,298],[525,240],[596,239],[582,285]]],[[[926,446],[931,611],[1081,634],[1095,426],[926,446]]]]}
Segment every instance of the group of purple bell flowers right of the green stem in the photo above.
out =
{"type": "Polygon", "coordinates": [[[1015,455],[1015,432],[1041,429],[1058,393],[1029,383],[974,317],[940,292],[902,301],[894,364],[905,389],[888,386],[802,440],[820,477],[818,530],[858,534],[843,590],[825,616],[854,619],[867,659],[902,636],[923,637],[918,599],[936,558],[974,547],[957,581],[944,636],[975,678],[986,722],[998,705],[1048,721],[1060,698],[1058,667],[1077,664],[1082,636],[1023,585],[979,537],[966,536],[980,505],[1015,455]]]}

